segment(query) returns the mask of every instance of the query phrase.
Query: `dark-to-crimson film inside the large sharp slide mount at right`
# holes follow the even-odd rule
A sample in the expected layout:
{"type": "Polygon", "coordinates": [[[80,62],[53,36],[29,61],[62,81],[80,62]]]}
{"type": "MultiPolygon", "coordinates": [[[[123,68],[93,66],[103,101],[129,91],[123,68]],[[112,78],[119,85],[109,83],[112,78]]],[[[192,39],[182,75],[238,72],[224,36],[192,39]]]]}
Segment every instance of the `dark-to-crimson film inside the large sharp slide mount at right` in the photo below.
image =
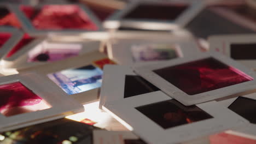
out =
{"type": "Polygon", "coordinates": [[[189,95],[253,80],[242,71],[211,57],[157,69],[154,73],[189,95]]]}

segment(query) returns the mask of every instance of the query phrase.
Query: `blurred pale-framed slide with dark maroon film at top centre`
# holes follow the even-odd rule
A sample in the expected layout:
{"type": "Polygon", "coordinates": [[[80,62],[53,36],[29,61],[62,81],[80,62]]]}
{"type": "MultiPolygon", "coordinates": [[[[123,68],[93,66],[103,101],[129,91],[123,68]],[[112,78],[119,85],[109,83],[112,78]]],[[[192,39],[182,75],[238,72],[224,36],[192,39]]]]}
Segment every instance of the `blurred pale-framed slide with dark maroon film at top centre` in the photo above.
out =
{"type": "Polygon", "coordinates": [[[185,26],[203,4],[197,2],[133,1],[104,21],[104,28],[120,26],[138,29],[173,30],[185,26]]]}

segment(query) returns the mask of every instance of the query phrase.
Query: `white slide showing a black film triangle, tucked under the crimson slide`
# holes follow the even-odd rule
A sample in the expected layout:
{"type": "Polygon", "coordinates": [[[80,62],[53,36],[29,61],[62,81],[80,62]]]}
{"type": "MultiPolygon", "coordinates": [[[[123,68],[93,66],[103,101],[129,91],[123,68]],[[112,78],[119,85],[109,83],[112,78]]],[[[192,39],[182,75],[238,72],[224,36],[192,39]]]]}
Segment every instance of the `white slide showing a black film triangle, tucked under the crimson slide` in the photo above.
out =
{"type": "Polygon", "coordinates": [[[109,101],[122,100],[136,95],[160,91],[141,76],[136,75],[130,67],[123,65],[106,65],[100,94],[100,109],[109,101]]]}

